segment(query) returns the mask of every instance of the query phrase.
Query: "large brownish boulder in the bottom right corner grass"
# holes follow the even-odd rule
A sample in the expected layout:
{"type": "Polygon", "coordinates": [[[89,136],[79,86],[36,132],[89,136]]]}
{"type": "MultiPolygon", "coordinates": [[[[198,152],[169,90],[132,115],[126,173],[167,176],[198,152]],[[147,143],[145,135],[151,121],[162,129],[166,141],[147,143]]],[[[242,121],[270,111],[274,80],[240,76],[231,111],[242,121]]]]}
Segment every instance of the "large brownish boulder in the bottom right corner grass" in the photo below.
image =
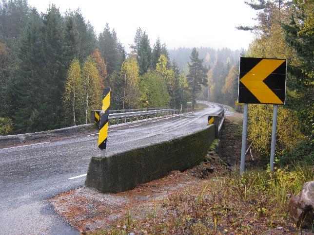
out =
{"type": "Polygon", "coordinates": [[[290,216],[299,228],[313,228],[314,221],[314,181],[303,184],[299,195],[294,196],[289,204],[290,216]]]}

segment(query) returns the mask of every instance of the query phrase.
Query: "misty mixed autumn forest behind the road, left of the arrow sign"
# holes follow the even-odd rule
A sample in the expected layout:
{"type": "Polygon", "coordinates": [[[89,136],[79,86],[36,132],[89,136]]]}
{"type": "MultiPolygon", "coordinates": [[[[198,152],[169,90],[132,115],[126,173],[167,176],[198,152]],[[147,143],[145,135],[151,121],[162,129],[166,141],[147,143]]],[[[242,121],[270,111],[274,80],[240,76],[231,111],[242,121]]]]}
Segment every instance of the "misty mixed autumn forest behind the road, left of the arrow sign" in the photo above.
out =
{"type": "Polygon", "coordinates": [[[112,109],[184,108],[197,98],[234,104],[236,87],[225,80],[236,84],[230,74],[238,54],[168,50],[141,28],[126,53],[114,29],[107,24],[97,35],[79,9],[62,15],[52,4],[39,14],[27,0],[2,0],[0,134],[85,124],[100,109],[104,87],[111,88],[112,109]]]}

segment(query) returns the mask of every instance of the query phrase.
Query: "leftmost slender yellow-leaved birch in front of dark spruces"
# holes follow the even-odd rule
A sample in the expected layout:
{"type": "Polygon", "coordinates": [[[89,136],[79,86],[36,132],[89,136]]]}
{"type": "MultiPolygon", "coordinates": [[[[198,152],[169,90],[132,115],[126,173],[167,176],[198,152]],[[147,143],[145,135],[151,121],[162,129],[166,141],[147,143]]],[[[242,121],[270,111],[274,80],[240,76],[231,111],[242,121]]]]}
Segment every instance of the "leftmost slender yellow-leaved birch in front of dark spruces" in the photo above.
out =
{"type": "Polygon", "coordinates": [[[74,126],[83,123],[83,81],[78,59],[73,59],[70,65],[62,104],[67,123],[74,126]]]}

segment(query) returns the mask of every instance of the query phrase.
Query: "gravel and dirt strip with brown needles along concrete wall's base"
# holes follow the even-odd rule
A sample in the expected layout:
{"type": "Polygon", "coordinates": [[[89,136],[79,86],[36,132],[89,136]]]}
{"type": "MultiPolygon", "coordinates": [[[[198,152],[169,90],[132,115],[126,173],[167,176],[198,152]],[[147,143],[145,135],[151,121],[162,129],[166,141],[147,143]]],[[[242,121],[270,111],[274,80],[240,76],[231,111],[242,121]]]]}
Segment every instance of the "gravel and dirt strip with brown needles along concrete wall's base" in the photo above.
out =
{"type": "Polygon", "coordinates": [[[194,185],[203,184],[204,179],[216,181],[227,176],[230,167],[208,153],[204,162],[184,172],[173,171],[168,176],[139,185],[133,190],[118,194],[103,194],[87,187],[71,190],[49,199],[55,210],[81,233],[110,230],[117,221],[132,214],[132,217],[150,217],[152,208],[165,202],[179,192],[194,185]]]}

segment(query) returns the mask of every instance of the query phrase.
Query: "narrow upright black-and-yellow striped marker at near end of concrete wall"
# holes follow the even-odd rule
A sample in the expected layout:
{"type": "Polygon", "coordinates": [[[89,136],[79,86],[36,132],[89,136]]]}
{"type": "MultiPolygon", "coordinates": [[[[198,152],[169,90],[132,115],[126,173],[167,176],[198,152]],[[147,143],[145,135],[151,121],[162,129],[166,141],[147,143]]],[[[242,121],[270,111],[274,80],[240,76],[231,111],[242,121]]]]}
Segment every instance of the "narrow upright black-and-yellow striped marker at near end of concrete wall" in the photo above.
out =
{"type": "MultiPolygon", "coordinates": [[[[107,146],[109,124],[110,88],[105,88],[102,94],[102,108],[99,122],[98,147],[103,150],[107,146]]],[[[96,115],[96,114],[95,114],[96,115]]]]}

